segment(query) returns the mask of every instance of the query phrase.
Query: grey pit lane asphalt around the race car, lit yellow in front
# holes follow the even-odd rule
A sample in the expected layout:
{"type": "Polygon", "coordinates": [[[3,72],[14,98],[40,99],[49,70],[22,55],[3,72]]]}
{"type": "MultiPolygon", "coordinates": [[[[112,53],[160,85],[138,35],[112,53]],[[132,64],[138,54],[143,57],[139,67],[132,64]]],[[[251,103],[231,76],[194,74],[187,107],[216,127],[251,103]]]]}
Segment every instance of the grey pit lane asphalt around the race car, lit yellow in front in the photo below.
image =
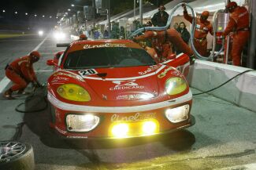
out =
{"type": "MultiPolygon", "coordinates": [[[[5,75],[6,63],[35,49],[43,38],[0,40],[1,78],[5,75]]],[[[51,67],[46,66],[46,60],[59,49],[51,37],[39,47],[43,57],[35,63],[35,70],[39,71],[40,82],[50,75],[51,67]]],[[[193,98],[191,114],[196,124],[191,128],[165,136],[103,141],[59,139],[48,127],[49,107],[29,114],[14,110],[24,100],[24,96],[17,100],[1,98],[0,140],[14,138],[32,144],[38,170],[205,170],[235,165],[239,165],[238,168],[228,169],[244,169],[243,165],[256,163],[256,113],[206,94],[193,98]]],[[[32,101],[35,101],[34,107],[43,107],[43,103],[36,103],[38,100],[32,101]]]]}

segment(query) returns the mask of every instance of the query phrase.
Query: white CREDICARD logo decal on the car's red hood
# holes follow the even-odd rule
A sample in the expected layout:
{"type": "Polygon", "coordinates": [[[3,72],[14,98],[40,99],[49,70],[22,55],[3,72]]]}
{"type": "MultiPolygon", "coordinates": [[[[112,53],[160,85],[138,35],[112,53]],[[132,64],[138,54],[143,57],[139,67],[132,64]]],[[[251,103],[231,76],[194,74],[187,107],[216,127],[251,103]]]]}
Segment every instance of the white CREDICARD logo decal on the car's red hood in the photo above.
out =
{"type": "Polygon", "coordinates": [[[109,88],[109,90],[123,90],[123,89],[144,89],[143,85],[138,85],[135,83],[135,80],[129,80],[129,81],[112,81],[114,84],[116,84],[115,87],[109,88]]]}

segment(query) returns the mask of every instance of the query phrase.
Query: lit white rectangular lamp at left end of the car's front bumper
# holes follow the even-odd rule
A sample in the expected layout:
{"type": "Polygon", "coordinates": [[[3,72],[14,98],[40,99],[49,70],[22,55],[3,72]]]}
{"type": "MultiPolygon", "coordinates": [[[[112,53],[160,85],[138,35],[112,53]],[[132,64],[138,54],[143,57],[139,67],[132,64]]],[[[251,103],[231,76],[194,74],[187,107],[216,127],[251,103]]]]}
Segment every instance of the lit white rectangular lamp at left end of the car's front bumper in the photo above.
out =
{"type": "Polygon", "coordinates": [[[99,123],[98,116],[92,114],[69,114],[66,118],[66,124],[69,131],[88,132],[94,129],[99,123]]]}

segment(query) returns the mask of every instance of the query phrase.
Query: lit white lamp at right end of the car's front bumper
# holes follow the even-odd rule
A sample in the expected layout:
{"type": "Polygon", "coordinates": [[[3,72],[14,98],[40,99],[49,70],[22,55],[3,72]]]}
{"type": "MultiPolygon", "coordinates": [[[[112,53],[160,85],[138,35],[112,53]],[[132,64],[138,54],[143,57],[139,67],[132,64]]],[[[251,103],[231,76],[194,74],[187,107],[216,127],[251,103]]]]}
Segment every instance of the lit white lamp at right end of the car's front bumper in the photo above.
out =
{"type": "Polygon", "coordinates": [[[188,118],[189,105],[165,110],[165,117],[173,123],[185,121],[188,118]]]}

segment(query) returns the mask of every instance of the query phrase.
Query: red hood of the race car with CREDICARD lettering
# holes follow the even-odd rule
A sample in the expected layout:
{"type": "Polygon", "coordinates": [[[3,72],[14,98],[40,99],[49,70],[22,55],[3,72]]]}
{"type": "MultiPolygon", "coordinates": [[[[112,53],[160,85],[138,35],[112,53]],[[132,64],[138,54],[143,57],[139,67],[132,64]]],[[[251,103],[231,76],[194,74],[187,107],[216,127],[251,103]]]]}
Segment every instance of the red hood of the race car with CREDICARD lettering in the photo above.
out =
{"type": "Polygon", "coordinates": [[[147,67],[100,68],[76,71],[85,83],[106,100],[138,100],[158,96],[157,71],[161,65],[147,67]]]}

